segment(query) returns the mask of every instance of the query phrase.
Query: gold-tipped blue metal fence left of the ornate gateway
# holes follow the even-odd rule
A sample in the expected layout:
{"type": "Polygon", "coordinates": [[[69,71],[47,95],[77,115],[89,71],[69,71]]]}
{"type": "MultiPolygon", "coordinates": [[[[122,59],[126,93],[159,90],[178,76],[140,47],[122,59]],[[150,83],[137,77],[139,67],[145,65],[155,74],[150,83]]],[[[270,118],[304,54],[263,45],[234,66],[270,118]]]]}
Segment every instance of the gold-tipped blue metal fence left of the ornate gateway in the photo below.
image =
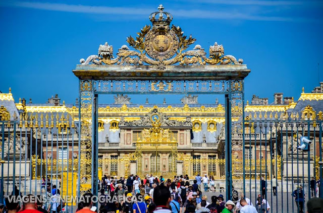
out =
{"type": "MultiPolygon", "coordinates": [[[[0,200],[9,194],[46,197],[56,187],[74,212],[72,197],[85,186],[86,180],[81,184],[77,180],[88,161],[79,158],[77,125],[63,113],[56,117],[36,113],[28,118],[26,115],[25,119],[21,114],[20,118],[20,121],[0,121],[0,200]]],[[[48,199],[43,204],[48,208],[49,203],[48,199]]]]}

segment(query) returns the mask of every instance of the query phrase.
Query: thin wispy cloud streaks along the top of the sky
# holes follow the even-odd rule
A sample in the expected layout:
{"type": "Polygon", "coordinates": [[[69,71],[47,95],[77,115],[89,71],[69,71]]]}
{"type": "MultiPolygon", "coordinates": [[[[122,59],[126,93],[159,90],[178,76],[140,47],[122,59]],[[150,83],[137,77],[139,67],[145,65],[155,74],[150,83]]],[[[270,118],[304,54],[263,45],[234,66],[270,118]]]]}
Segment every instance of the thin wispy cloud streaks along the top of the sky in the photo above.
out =
{"type": "MultiPolygon", "coordinates": [[[[276,1],[238,1],[238,0],[203,0],[204,2],[214,3],[227,3],[227,4],[279,4],[276,1]],[[241,3],[240,3],[241,2],[241,3]],[[244,3],[242,3],[244,2],[244,3]]],[[[297,2],[294,2],[295,4],[297,2]]],[[[281,3],[282,4],[282,3],[281,3]]],[[[287,4],[287,3],[286,3],[287,4]]],[[[56,3],[42,3],[42,2],[1,2],[0,6],[3,7],[19,7],[47,11],[60,11],[70,13],[88,13],[88,14],[112,14],[112,15],[130,15],[130,16],[147,16],[153,8],[131,8],[131,7],[105,7],[105,6],[86,6],[86,5],[68,5],[56,3]]],[[[292,17],[274,17],[274,16],[261,16],[251,15],[245,12],[237,12],[232,10],[215,11],[215,10],[168,10],[176,18],[194,18],[194,19],[227,19],[227,20],[255,20],[255,21],[312,21],[303,18],[292,17]]]]}

